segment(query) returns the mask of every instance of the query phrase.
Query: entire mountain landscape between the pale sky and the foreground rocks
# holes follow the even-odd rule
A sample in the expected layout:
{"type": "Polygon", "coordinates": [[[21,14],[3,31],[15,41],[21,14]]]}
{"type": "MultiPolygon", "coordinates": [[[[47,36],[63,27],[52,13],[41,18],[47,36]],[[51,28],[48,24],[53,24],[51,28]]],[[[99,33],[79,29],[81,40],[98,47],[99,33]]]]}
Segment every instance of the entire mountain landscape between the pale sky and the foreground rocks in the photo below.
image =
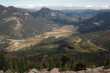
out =
{"type": "Polygon", "coordinates": [[[0,69],[110,67],[109,19],[107,9],[0,5],[0,69]]]}

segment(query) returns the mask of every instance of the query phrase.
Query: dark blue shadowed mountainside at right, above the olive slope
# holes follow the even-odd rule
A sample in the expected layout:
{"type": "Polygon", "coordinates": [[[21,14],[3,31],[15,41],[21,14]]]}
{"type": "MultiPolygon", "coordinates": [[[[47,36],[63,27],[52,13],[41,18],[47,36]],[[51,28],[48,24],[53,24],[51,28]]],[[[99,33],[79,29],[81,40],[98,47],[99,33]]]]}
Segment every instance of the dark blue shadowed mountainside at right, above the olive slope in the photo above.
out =
{"type": "Polygon", "coordinates": [[[110,29],[110,10],[99,10],[95,16],[80,23],[83,33],[106,31],[110,29]]]}

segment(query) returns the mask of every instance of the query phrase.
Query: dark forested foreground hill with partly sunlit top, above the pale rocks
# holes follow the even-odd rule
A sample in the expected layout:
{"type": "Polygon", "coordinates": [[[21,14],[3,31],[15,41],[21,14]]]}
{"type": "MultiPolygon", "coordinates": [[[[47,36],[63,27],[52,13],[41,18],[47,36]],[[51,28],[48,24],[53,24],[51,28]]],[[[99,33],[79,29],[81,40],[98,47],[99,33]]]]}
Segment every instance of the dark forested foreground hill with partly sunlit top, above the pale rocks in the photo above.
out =
{"type": "Polygon", "coordinates": [[[77,35],[63,35],[59,38],[52,36],[39,40],[36,37],[23,43],[15,41],[8,51],[1,51],[1,55],[4,55],[3,67],[6,69],[4,64],[7,64],[9,69],[24,72],[27,68],[50,70],[57,67],[61,70],[83,70],[110,66],[107,50],[77,35]],[[17,47],[14,44],[17,44],[17,47]]]}

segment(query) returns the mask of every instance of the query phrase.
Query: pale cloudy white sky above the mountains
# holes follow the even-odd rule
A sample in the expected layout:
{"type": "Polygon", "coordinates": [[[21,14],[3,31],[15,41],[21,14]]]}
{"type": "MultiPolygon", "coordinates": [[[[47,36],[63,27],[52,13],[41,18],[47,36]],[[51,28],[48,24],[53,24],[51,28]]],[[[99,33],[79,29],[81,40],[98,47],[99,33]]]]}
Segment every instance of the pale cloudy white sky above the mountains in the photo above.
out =
{"type": "Polygon", "coordinates": [[[42,6],[109,8],[110,0],[0,0],[0,4],[21,8],[34,8],[42,6]]]}

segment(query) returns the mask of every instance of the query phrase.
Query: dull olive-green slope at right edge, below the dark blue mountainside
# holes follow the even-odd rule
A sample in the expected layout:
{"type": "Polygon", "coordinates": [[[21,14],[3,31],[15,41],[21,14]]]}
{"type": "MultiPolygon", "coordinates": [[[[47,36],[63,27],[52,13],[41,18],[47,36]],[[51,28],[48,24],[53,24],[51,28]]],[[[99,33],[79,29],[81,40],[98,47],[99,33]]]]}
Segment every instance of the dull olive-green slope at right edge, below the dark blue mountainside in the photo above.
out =
{"type": "Polygon", "coordinates": [[[110,50],[110,31],[87,33],[83,36],[91,40],[97,46],[110,50]]]}

